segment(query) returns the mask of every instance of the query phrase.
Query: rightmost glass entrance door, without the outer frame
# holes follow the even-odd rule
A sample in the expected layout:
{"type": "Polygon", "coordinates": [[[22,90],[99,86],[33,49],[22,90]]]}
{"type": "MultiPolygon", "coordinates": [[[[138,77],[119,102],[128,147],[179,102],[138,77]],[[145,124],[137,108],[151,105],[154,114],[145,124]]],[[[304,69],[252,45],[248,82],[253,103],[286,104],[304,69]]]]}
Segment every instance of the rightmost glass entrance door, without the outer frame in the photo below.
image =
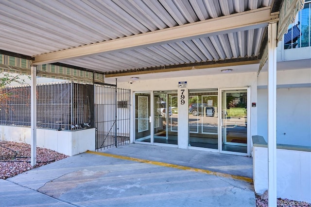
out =
{"type": "Polygon", "coordinates": [[[247,153],[247,88],[221,91],[221,151],[247,153]]]}

